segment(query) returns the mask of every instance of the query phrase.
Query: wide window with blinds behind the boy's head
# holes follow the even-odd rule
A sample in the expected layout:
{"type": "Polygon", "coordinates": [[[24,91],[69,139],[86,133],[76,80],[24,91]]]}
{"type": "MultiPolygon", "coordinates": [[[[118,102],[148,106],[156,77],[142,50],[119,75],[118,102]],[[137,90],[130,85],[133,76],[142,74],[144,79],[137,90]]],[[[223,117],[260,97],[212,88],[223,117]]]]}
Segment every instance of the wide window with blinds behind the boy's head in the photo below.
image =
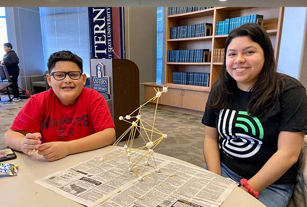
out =
{"type": "Polygon", "coordinates": [[[39,10],[45,65],[51,53],[69,50],[83,59],[83,72],[89,77],[88,8],[40,7],[39,10]]]}

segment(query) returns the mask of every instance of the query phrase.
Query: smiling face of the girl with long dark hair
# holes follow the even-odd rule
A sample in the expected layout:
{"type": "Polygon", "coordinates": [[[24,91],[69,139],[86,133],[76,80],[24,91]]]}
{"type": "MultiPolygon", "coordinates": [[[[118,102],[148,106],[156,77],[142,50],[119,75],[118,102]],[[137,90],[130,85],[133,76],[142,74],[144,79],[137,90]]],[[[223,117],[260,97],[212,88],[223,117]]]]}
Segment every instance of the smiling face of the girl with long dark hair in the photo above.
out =
{"type": "Polygon", "coordinates": [[[249,91],[256,83],[264,62],[263,49],[248,36],[235,37],[228,45],[226,68],[243,91],[249,91]]]}

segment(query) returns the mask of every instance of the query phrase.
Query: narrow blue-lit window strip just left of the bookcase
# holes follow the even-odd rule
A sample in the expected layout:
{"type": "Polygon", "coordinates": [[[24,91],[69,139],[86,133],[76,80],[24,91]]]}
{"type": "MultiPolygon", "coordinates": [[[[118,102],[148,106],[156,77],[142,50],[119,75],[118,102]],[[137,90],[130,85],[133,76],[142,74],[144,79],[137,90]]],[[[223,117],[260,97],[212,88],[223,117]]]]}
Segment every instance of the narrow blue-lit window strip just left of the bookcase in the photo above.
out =
{"type": "Polygon", "coordinates": [[[164,7],[157,7],[157,74],[156,82],[161,83],[163,59],[163,18],[164,7]]]}

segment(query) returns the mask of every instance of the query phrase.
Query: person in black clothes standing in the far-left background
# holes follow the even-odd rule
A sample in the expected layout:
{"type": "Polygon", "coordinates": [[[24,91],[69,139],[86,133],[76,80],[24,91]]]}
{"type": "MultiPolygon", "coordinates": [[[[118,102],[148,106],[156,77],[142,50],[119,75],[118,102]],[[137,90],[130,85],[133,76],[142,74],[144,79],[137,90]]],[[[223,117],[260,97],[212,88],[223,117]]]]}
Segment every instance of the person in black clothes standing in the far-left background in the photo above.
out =
{"type": "Polygon", "coordinates": [[[10,80],[12,84],[10,84],[10,88],[13,91],[13,99],[12,101],[19,101],[19,89],[18,89],[18,76],[19,76],[19,59],[16,52],[13,49],[11,43],[6,42],[3,44],[3,49],[6,54],[3,56],[3,60],[0,62],[2,65],[5,64],[7,72],[9,76],[11,76],[10,80]]]}

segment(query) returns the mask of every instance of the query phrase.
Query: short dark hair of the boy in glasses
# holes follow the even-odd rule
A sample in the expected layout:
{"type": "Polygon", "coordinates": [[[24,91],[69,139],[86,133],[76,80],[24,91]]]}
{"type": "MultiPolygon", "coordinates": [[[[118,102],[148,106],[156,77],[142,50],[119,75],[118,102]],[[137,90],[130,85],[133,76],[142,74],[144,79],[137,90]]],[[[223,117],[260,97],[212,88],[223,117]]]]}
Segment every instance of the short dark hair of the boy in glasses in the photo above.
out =
{"type": "Polygon", "coordinates": [[[82,58],[79,57],[76,54],[73,54],[70,51],[62,50],[58,52],[54,52],[49,56],[47,67],[49,73],[51,73],[51,70],[54,68],[55,63],[58,61],[71,61],[78,65],[79,69],[83,73],[83,61],[82,58]]]}

